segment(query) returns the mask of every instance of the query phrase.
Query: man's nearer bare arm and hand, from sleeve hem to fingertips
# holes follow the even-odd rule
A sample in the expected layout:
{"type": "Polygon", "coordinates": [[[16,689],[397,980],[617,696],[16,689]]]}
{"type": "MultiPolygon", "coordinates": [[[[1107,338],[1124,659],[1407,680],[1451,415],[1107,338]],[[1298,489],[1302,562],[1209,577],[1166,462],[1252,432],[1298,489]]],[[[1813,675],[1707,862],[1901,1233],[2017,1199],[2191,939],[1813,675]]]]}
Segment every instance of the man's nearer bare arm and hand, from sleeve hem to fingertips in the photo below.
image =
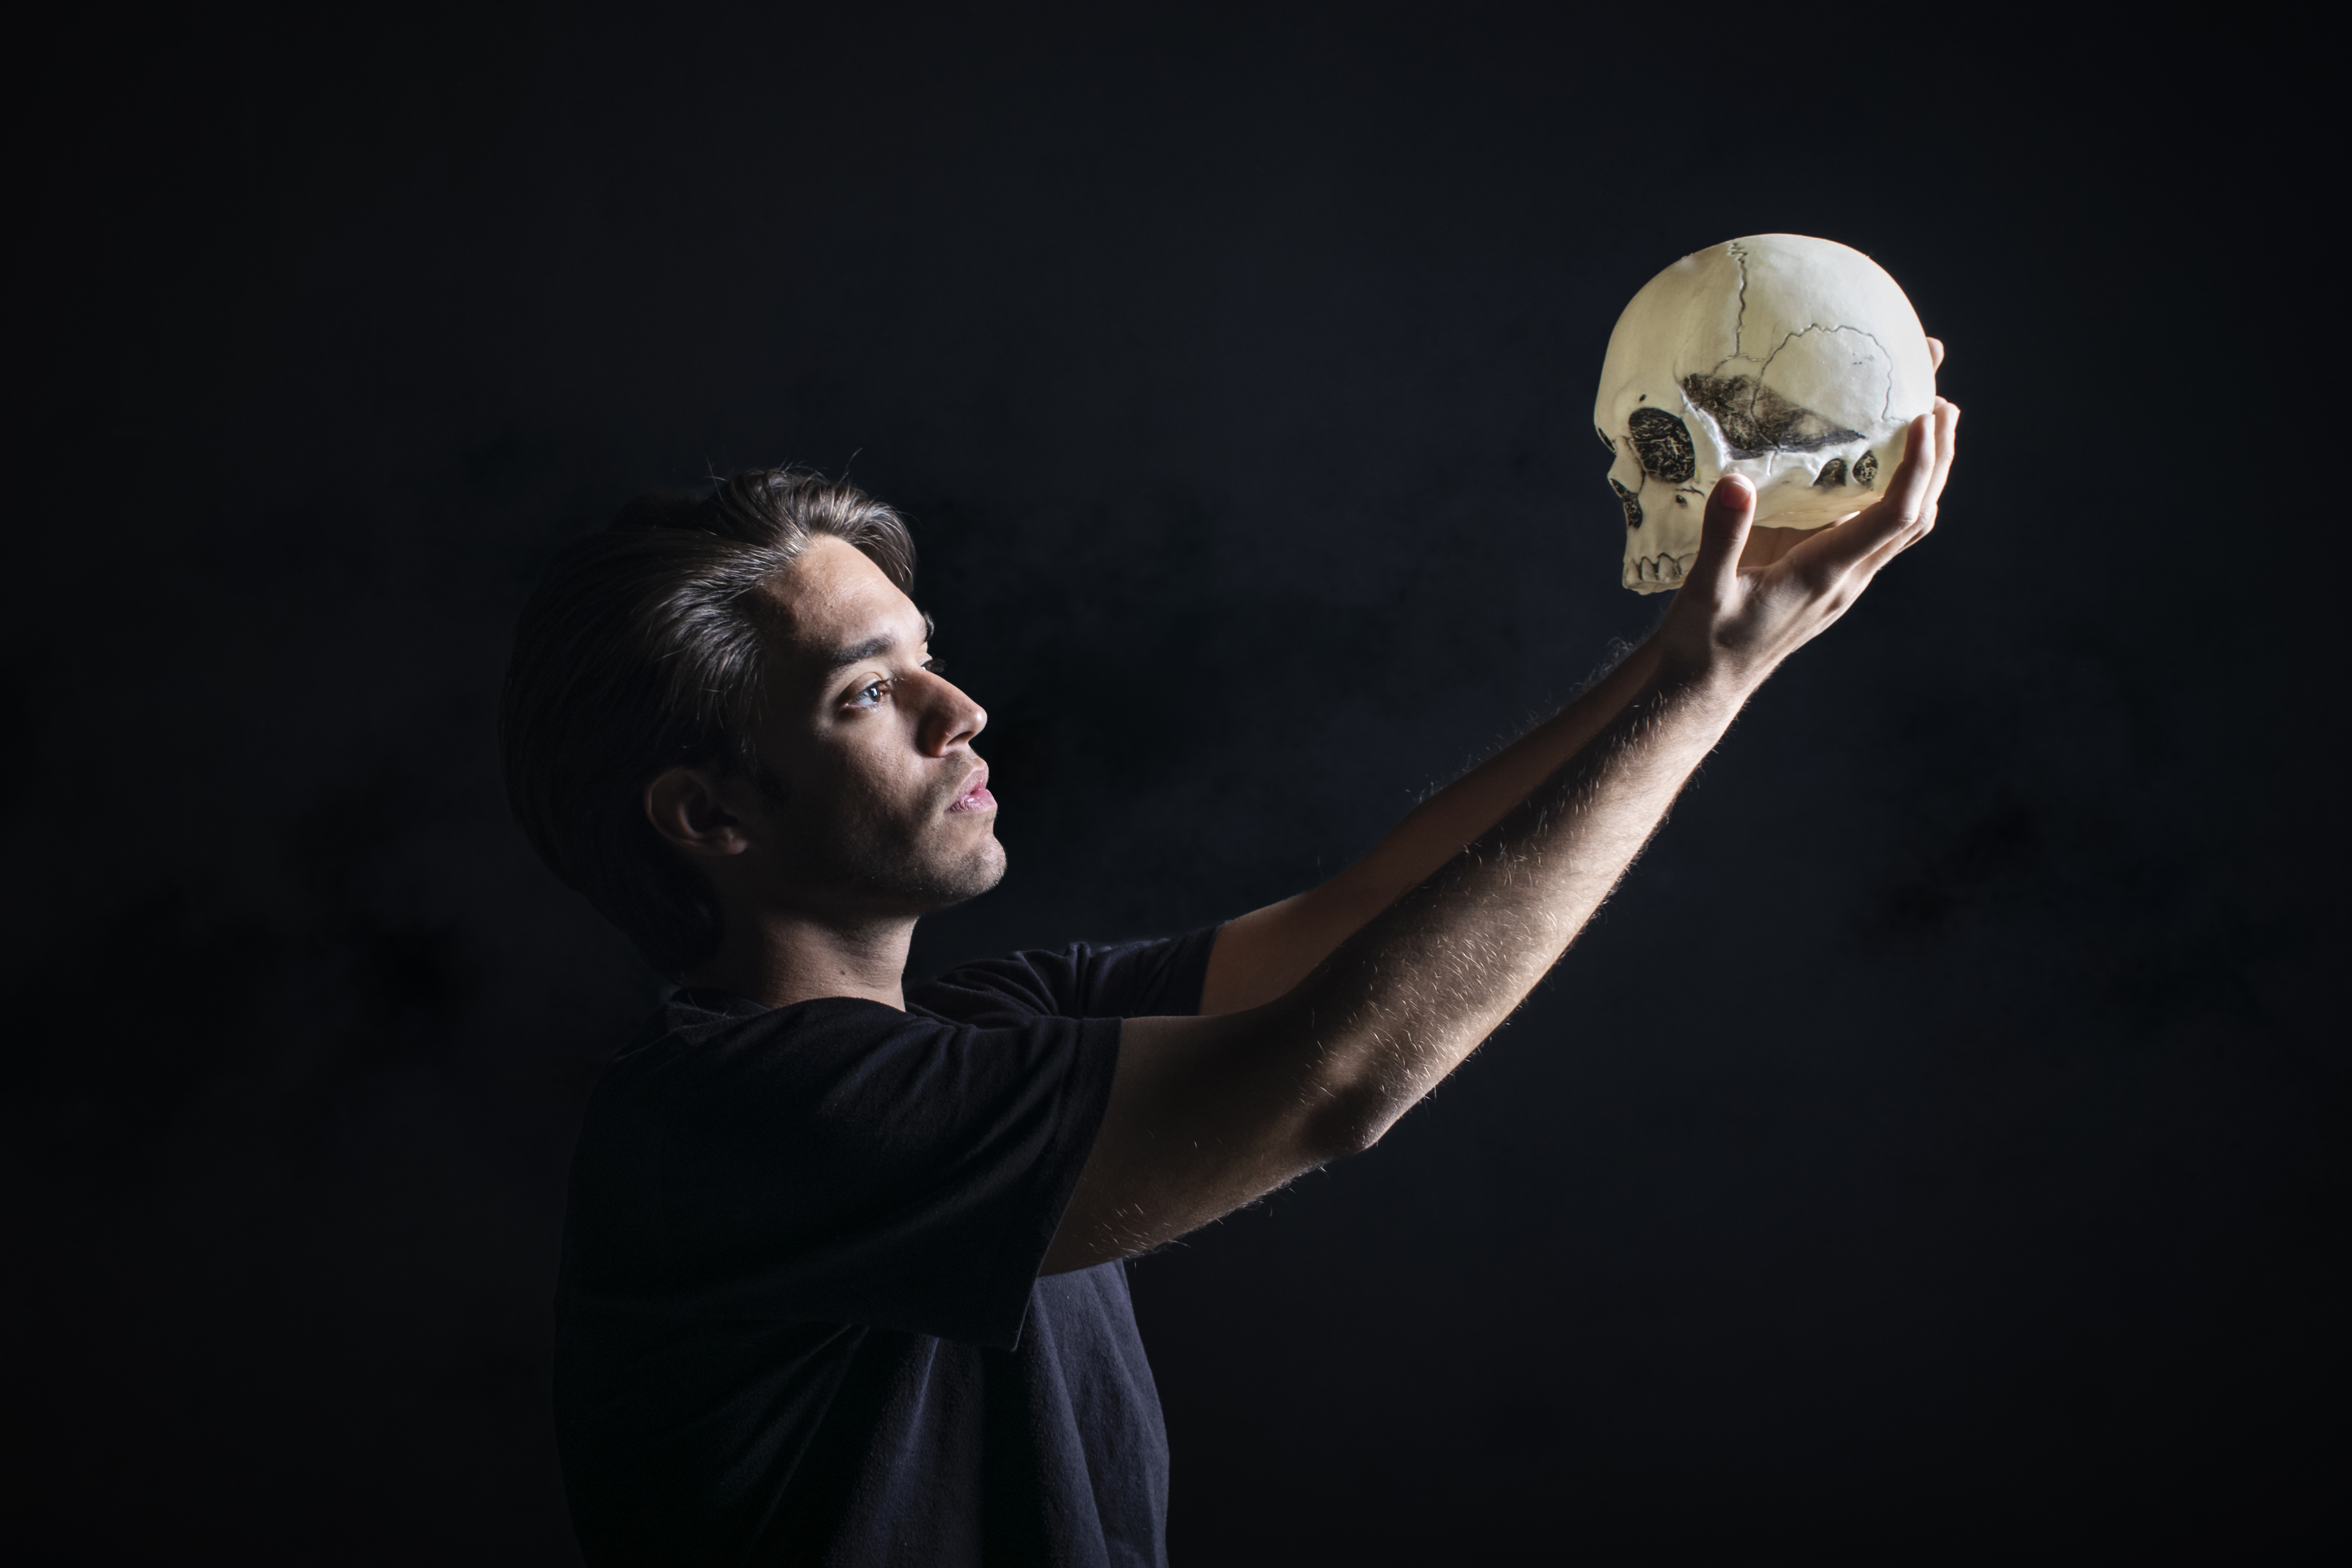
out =
{"type": "Polygon", "coordinates": [[[1938,400],[1886,498],[1769,569],[1738,567],[1755,491],[1717,484],[1656,670],[1590,745],[1282,997],[1127,1020],[1044,1272],[1148,1251],[1378,1143],[1559,959],[1748,696],[1926,536],[1957,418],[1938,400]]]}

